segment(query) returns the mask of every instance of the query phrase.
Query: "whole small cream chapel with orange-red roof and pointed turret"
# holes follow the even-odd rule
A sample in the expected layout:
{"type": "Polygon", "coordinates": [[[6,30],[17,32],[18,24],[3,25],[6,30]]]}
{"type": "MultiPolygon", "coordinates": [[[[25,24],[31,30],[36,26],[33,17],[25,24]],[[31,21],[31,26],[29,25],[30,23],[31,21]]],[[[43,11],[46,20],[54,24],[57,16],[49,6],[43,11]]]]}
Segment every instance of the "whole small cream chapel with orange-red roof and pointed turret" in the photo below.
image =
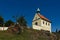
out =
{"type": "Polygon", "coordinates": [[[51,21],[40,14],[39,8],[37,9],[37,12],[32,20],[32,28],[51,32],[51,21]]]}

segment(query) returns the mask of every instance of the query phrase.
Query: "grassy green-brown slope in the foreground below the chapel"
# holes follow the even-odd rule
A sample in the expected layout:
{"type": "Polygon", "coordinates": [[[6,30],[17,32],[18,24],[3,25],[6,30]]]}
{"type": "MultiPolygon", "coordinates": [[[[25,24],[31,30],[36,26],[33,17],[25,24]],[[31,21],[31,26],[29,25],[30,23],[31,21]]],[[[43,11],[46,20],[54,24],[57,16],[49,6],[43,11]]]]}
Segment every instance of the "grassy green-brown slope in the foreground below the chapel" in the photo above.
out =
{"type": "Polygon", "coordinates": [[[20,34],[0,31],[0,40],[57,40],[57,36],[45,31],[24,29],[20,34]]]}

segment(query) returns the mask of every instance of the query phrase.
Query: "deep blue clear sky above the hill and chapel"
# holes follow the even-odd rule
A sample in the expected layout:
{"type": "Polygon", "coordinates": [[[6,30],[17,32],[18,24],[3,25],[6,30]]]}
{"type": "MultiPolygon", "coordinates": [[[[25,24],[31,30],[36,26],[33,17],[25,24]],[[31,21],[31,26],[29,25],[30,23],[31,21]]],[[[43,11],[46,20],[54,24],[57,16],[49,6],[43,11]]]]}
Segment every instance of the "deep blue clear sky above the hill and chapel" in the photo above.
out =
{"type": "Polygon", "coordinates": [[[52,21],[52,31],[60,30],[60,0],[0,0],[0,15],[5,20],[24,15],[29,26],[40,8],[40,13],[52,21]]]}

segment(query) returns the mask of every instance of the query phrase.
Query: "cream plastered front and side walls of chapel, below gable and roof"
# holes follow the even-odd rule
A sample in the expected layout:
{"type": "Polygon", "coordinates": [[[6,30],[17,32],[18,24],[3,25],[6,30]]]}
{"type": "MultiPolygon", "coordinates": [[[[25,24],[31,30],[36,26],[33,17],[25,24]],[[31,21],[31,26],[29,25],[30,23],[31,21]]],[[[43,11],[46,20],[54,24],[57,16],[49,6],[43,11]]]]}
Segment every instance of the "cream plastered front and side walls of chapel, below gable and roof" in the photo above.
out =
{"type": "Polygon", "coordinates": [[[47,22],[47,25],[46,25],[46,21],[44,21],[44,24],[43,24],[43,21],[44,20],[39,19],[37,21],[32,22],[33,29],[37,29],[37,30],[42,29],[42,30],[47,30],[51,32],[51,23],[50,25],[48,25],[49,22],[47,22]],[[38,22],[38,25],[35,25],[35,22],[38,22]]]}

